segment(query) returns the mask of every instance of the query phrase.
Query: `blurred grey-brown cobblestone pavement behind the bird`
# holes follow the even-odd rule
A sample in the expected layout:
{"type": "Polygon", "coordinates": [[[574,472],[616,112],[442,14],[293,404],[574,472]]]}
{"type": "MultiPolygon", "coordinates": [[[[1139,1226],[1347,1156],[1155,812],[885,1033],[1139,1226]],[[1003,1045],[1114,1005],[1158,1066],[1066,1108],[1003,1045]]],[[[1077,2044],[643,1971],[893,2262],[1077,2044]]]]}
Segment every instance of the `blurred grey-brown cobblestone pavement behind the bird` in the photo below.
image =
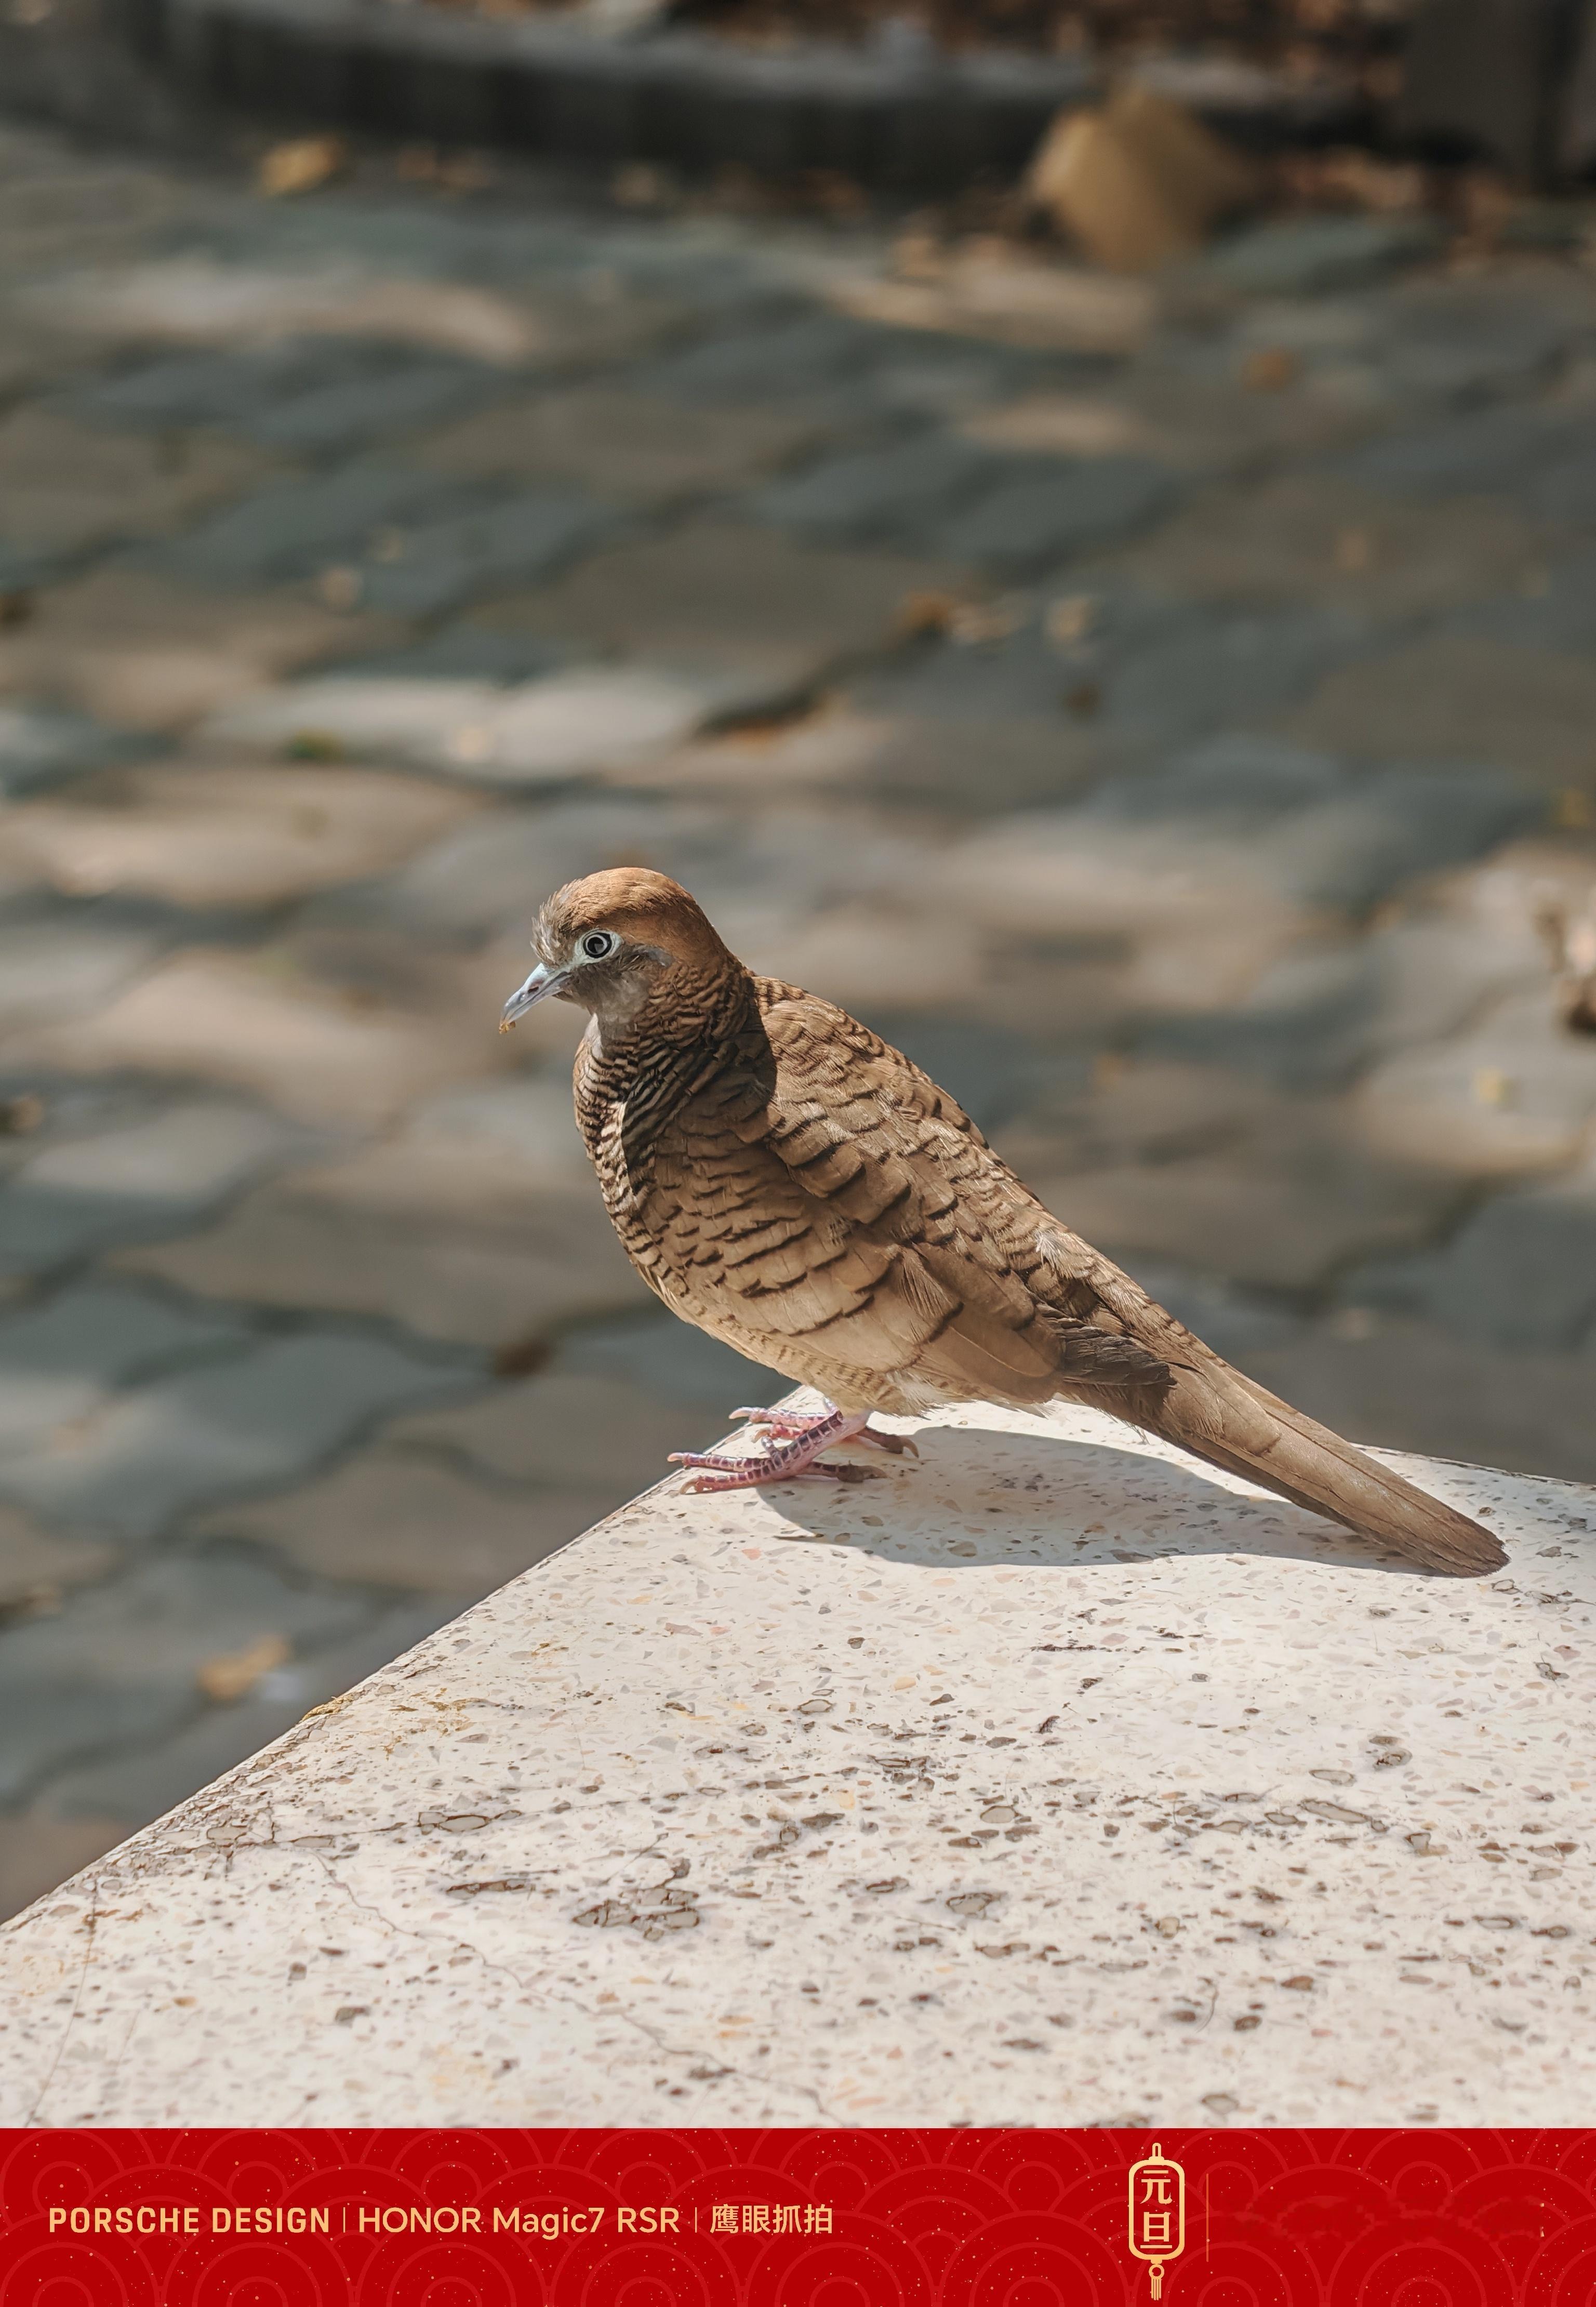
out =
{"type": "Polygon", "coordinates": [[[496,1034],[607,863],[1305,1407],[1596,1479],[1591,279],[374,171],[0,134],[0,1908],[775,1391],[496,1034]]]}

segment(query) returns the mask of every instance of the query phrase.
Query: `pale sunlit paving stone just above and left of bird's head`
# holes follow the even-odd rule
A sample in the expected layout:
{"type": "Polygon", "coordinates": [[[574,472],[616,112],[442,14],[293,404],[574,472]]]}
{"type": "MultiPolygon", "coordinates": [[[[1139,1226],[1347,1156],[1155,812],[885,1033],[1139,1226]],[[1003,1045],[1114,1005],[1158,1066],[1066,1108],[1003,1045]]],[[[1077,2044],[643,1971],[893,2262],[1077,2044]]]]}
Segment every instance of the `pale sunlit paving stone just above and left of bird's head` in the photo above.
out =
{"type": "Polygon", "coordinates": [[[510,687],[351,674],[244,697],[205,734],[256,752],[408,761],[480,784],[558,784],[646,757],[738,697],[715,669],[646,664],[572,667],[510,687]]]}

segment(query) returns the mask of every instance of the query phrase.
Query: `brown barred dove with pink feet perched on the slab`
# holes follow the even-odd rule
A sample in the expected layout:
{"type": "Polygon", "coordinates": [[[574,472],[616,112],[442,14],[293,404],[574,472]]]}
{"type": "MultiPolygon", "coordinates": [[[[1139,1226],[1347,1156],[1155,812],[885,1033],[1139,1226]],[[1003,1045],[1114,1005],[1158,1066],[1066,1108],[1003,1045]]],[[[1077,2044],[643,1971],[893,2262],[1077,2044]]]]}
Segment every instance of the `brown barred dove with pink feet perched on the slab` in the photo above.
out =
{"type": "Polygon", "coordinates": [[[1068,1230],[918,1066],[846,1010],[759,978],[657,872],[570,881],[505,1004],[588,1010],[577,1121],[627,1257],[671,1313],[833,1405],[738,1412],[752,1458],[683,1453],[699,1490],[826,1479],[869,1412],[1109,1410],[1430,1569],[1492,1532],[1275,1400],[1068,1230]]]}

